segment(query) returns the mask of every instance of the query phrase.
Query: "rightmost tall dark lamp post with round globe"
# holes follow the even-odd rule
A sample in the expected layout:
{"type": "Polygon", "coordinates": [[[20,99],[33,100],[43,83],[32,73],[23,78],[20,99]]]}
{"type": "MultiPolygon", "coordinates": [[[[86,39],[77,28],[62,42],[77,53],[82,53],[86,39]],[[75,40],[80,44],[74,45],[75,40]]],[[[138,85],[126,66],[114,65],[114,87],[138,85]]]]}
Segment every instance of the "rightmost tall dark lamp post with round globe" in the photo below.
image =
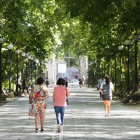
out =
{"type": "Polygon", "coordinates": [[[137,71],[137,42],[139,40],[139,36],[135,34],[133,36],[133,40],[135,42],[135,88],[137,88],[138,82],[138,71],[137,71]]]}

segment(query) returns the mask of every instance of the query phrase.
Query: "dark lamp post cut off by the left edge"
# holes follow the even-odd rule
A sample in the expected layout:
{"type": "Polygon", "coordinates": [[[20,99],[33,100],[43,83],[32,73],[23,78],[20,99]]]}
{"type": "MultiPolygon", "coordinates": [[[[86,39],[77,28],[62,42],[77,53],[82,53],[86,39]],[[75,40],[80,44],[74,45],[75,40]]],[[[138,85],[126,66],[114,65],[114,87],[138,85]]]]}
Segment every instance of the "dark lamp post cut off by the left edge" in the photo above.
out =
{"type": "Polygon", "coordinates": [[[2,62],[1,62],[1,47],[3,44],[2,36],[0,35],[0,95],[2,95],[2,62]]]}

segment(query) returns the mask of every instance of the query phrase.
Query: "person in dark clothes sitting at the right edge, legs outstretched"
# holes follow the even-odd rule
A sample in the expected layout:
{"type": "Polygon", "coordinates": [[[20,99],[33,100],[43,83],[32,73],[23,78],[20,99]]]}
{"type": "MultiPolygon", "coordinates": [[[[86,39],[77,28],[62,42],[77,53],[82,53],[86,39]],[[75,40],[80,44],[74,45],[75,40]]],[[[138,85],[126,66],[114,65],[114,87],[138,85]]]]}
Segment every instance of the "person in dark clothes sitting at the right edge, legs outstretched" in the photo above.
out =
{"type": "Polygon", "coordinates": [[[132,100],[132,99],[137,99],[138,97],[140,97],[140,85],[137,85],[137,91],[136,91],[134,94],[128,96],[128,97],[126,98],[126,100],[124,100],[124,101],[122,101],[122,102],[123,102],[123,103],[129,103],[130,100],[132,100]]]}

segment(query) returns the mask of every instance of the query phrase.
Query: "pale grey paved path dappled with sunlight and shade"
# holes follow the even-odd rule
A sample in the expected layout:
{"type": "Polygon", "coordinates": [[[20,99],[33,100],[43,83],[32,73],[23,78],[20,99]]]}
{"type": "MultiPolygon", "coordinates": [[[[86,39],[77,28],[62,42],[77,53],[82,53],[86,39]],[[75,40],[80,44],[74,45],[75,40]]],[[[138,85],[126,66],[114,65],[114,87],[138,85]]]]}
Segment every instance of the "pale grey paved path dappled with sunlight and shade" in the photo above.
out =
{"type": "MultiPolygon", "coordinates": [[[[49,86],[52,96],[54,85],[49,86]]],[[[48,100],[45,132],[35,133],[34,118],[28,116],[28,96],[0,106],[0,140],[135,140],[140,139],[140,113],[113,101],[111,116],[105,117],[96,89],[70,85],[70,105],[64,130],[57,132],[52,98],[48,100]]]]}

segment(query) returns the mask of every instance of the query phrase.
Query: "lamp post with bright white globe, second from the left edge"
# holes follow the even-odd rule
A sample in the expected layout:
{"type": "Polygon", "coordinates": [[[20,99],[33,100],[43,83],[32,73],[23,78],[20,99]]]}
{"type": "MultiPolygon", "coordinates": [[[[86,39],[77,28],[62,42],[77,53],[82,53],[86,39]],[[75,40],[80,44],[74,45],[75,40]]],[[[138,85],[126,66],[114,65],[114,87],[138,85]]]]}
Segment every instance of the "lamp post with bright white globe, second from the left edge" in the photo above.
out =
{"type": "Polygon", "coordinates": [[[10,45],[8,46],[8,49],[10,51],[10,73],[9,73],[9,93],[11,93],[11,66],[12,66],[12,49],[13,49],[13,45],[10,43],[10,45]]]}

